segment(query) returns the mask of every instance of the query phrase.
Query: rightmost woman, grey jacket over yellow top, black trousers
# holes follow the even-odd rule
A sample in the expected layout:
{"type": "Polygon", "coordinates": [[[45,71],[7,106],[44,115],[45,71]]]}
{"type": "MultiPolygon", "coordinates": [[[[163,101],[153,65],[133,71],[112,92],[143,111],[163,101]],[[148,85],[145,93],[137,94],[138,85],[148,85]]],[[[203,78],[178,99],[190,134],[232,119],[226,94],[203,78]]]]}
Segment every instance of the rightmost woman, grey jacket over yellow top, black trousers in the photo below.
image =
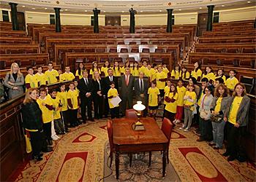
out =
{"type": "Polygon", "coordinates": [[[246,130],[248,124],[249,104],[250,98],[246,95],[244,84],[236,84],[230,104],[224,114],[227,128],[227,150],[223,156],[230,156],[227,161],[238,159],[239,162],[244,162],[246,160],[237,155],[237,149],[241,145],[241,140],[239,140],[241,130],[246,130]]]}

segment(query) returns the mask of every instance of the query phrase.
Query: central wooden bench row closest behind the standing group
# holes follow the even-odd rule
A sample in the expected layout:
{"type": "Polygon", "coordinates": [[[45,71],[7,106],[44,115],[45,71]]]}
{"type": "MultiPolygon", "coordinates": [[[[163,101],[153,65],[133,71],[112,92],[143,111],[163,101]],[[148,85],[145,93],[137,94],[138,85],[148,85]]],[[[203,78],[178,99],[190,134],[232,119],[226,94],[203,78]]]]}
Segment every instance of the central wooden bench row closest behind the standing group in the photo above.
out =
{"type": "Polygon", "coordinates": [[[105,52],[127,52],[127,53],[142,53],[142,52],[157,52],[168,53],[173,55],[173,61],[177,63],[179,60],[178,45],[67,45],[55,44],[56,63],[61,63],[64,60],[66,52],[86,52],[86,53],[105,53],[105,52]]]}

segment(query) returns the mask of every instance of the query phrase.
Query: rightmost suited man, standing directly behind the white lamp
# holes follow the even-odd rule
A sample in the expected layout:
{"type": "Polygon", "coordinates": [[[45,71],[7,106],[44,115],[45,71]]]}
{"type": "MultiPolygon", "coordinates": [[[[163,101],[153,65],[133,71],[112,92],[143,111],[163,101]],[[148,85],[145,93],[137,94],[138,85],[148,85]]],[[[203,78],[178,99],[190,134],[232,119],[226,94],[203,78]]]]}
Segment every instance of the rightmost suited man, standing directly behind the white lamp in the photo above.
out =
{"type": "Polygon", "coordinates": [[[139,78],[135,80],[135,98],[137,101],[142,101],[146,109],[143,111],[143,116],[146,117],[148,106],[148,80],[143,79],[144,74],[140,71],[139,78]]]}

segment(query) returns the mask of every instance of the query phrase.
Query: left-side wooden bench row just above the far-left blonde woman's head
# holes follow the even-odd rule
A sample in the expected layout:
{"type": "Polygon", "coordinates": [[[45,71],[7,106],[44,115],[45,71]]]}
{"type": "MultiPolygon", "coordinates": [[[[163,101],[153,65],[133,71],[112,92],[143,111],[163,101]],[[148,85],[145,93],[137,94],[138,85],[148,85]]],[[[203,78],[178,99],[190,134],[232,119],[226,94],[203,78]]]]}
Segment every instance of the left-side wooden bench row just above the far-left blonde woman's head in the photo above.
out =
{"type": "Polygon", "coordinates": [[[21,67],[27,66],[46,66],[49,61],[49,55],[46,53],[39,54],[0,54],[0,69],[10,68],[12,63],[19,63],[21,67]]]}

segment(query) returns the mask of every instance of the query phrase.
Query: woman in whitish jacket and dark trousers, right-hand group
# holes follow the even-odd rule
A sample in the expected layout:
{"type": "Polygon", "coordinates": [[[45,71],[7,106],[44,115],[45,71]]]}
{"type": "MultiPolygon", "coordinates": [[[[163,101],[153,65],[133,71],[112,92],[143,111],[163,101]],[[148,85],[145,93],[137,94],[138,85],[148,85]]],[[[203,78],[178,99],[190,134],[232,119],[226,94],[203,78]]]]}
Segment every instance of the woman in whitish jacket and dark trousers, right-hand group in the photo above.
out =
{"type": "Polygon", "coordinates": [[[208,86],[204,90],[204,95],[199,108],[199,124],[200,124],[200,138],[197,141],[212,141],[212,125],[211,125],[211,108],[213,108],[213,87],[208,86]]]}

